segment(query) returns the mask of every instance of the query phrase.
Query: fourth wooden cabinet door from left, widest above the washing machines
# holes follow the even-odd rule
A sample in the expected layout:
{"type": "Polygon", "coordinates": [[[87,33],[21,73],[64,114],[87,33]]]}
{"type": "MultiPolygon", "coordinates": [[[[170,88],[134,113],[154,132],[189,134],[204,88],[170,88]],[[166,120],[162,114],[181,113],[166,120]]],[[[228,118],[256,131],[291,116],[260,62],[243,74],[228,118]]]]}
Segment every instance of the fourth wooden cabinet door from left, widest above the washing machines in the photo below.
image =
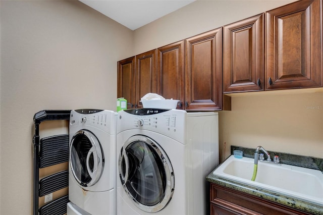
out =
{"type": "Polygon", "coordinates": [[[185,41],[185,109],[221,110],[222,27],[185,41]]]}

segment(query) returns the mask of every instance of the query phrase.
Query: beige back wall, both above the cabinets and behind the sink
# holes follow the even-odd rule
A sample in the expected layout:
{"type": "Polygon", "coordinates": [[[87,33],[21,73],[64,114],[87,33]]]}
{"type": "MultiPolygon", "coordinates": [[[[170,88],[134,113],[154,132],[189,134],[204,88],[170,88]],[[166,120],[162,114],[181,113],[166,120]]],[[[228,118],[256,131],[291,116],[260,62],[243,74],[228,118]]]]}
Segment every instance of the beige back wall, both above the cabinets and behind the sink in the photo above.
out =
{"type": "MultiPolygon", "coordinates": [[[[197,0],[137,29],[134,51],[142,53],[291,2],[294,0],[197,0]]],[[[221,161],[230,154],[231,145],[252,148],[262,145],[267,150],[323,158],[322,92],[237,95],[240,96],[232,98],[232,111],[219,114],[221,161]],[[306,106],[319,109],[310,110],[306,106]]]]}

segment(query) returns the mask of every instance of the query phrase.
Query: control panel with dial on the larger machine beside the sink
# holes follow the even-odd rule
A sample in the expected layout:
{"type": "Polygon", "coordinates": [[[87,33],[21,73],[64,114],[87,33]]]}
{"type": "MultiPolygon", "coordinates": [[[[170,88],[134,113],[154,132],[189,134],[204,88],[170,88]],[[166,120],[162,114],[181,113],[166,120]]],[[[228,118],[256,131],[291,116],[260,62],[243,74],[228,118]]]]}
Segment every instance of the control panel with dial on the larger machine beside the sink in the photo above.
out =
{"type": "Polygon", "coordinates": [[[183,138],[187,112],[168,109],[132,109],[118,112],[117,133],[129,129],[154,131],[183,138]],[[180,136],[180,137],[179,137],[180,136]]]}

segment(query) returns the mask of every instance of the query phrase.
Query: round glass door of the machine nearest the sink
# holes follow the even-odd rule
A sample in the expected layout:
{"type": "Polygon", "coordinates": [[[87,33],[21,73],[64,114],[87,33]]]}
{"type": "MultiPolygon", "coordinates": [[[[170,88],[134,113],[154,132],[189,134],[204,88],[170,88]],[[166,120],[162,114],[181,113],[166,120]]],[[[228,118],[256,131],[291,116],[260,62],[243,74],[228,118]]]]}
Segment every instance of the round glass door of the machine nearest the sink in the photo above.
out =
{"type": "Polygon", "coordinates": [[[121,148],[119,174],[136,206],[147,212],[163,209],[174,192],[174,172],[165,151],[151,138],[135,135],[121,148]]]}

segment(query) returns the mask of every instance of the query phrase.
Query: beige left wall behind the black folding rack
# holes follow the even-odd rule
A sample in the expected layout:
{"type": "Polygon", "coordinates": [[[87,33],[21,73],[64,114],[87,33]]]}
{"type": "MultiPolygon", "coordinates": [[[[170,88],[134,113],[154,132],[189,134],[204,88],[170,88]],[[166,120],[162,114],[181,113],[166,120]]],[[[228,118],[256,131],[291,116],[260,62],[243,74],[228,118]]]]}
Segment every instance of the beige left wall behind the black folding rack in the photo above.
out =
{"type": "Polygon", "coordinates": [[[117,61],[132,55],[133,31],[79,1],[0,4],[0,214],[31,214],[33,115],[116,110],[117,61]]]}

